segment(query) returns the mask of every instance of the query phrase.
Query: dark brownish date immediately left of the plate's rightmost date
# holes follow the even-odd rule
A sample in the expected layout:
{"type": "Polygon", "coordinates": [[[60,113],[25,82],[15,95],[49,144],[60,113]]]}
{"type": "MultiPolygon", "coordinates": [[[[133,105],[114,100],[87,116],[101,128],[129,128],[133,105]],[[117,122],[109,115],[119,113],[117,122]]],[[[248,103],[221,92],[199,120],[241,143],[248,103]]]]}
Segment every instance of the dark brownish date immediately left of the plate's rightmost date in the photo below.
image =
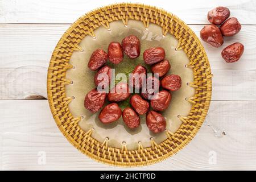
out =
{"type": "Polygon", "coordinates": [[[146,99],[151,99],[151,97],[154,95],[154,90],[156,90],[156,92],[158,92],[159,87],[160,87],[160,81],[158,80],[158,78],[154,77],[154,76],[150,76],[147,77],[147,83],[152,81],[152,88],[147,89],[146,84],[144,86],[142,86],[142,92],[141,95],[142,97],[146,98],[146,99]],[[158,85],[156,85],[156,82],[158,82],[158,85]]]}

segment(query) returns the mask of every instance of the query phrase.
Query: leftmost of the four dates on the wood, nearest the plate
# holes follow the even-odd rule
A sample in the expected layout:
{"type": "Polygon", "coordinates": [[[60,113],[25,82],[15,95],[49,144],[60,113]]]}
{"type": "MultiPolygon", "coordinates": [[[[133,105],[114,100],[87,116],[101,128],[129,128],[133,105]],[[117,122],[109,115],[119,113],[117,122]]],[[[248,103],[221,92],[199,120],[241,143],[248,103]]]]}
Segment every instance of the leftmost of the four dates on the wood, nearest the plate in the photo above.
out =
{"type": "Polygon", "coordinates": [[[213,47],[220,47],[224,42],[220,29],[213,24],[204,26],[200,31],[200,37],[213,47]]]}

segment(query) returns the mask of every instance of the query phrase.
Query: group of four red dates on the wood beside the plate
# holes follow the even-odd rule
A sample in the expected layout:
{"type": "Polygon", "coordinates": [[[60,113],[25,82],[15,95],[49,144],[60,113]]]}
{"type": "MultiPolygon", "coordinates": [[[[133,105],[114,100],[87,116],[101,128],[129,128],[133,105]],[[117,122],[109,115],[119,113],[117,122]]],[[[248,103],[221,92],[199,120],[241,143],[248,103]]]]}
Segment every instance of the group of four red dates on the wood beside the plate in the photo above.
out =
{"type": "MultiPolygon", "coordinates": [[[[216,7],[208,12],[210,25],[204,26],[200,31],[201,39],[213,47],[220,47],[224,43],[223,36],[234,36],[241,30],[237,18],[229,18],[230,11],[227,7],[216,7]]],[[[243,54],[243,44],[236,42],[224,48],[221,56],[226,63],[234,63],[243,54]]]]}

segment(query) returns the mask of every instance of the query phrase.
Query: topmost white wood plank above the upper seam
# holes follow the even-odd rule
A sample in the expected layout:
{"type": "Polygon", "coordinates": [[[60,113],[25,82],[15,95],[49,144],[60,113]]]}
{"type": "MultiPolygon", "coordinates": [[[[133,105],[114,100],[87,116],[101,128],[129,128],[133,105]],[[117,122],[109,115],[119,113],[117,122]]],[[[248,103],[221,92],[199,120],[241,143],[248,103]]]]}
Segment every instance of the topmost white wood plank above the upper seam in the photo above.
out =
{"type": "MultiPolygon", "coordinates": [[[[3,0],[0,3],[0,23],[73,23],[79,16],[97,7],[111,3],[123,2],[123,0],[91,1],[73,0],[63,1],[22,1],[3,0]]],[[[138,2],[131,0],[129,2],[138,2]]],[[[154,1],[142,0],[141,3],[162,7],[176,14],[188,24],[206,24],[207,12],[216,6],[226,6],[231,11],[231,16],[239,18],[242,24],[256,24],[256,2],[253,0],[216,0],[213,2],[194,1],[154,1]]]]}

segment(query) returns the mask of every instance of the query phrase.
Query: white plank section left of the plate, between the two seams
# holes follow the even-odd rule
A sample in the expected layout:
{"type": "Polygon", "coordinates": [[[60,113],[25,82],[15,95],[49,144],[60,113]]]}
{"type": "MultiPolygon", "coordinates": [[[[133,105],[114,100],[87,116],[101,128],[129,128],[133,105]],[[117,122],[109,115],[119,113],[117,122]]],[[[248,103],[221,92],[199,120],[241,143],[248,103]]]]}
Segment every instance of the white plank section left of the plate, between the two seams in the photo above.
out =
{"type": "Polygon", "coordinates": [[[0,99],[47,97],[49,60],[67,28],[68,25],[0,25],[0,99]]]}

